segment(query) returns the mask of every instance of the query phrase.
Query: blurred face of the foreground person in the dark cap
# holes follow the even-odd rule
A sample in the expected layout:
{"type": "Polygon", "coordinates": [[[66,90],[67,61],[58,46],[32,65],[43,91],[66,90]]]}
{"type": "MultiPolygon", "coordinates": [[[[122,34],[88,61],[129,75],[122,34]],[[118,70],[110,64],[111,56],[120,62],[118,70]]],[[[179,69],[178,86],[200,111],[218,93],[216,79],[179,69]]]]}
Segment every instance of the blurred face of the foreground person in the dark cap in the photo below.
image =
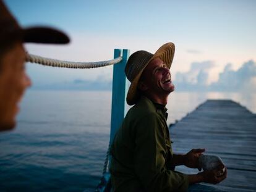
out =
{"type": "Polygon", "coordinates": [[[15,127],[15,115],[26,88],[31,85],[25,72],[25,50],[17,43],[1,58],[0,67],[0,131],[15,127]]]}

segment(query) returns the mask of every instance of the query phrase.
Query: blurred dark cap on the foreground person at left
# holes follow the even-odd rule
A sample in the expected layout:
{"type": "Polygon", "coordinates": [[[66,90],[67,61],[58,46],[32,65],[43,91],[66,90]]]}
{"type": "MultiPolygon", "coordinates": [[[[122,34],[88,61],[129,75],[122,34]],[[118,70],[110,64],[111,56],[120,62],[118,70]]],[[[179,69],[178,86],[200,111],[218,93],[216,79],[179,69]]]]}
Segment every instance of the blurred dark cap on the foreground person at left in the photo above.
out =
{"type": "Polygon", "coordinates": [[[69,43],[69,37],[60,30],[49,27],[22,28],[0,0],[0,44],[21,40],[27,43],[69,43]]]}

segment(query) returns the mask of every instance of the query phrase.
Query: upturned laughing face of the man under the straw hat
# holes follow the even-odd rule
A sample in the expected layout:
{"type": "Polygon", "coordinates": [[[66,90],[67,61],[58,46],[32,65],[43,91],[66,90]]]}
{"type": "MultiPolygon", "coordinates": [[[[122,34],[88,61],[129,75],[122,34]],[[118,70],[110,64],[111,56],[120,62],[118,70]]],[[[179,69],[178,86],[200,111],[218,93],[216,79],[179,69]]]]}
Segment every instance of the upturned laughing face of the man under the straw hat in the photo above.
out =
{"type": "Polygon", "coordinates": [[[171,73],[160,58],[153,59],[142,73],[141,80],[150,94],[168,95],[174,91],[171,73]]]}

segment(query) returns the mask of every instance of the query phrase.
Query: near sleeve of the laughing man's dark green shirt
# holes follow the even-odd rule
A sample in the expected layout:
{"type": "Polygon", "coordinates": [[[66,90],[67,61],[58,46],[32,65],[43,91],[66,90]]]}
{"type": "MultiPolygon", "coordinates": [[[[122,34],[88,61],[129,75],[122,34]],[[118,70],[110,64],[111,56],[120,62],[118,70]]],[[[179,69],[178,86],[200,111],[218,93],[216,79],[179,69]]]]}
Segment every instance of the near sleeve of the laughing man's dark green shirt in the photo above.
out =
{"type": "Polygon", "coordinates": [[[135,173],[146,191],[187,191],[187,175],[166,169],[166,133],[159,118],[151,113],[135,123],[135,173]]]}

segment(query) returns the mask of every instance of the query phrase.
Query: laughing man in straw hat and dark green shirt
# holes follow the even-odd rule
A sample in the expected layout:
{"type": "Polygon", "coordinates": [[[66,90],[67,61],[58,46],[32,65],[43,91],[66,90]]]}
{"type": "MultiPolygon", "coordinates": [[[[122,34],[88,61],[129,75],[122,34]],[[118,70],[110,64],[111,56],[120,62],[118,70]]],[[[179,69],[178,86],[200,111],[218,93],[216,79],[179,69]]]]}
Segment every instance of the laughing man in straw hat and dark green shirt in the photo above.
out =
{"type": "Polygon", "coordinates": [[[131,82],[127,103],[134,105],[116,133],[111,147],[111,177],[114,191],[187,191],[198,182],[219,183],[218,170],[186,175],[174,171],[176,165],[198,168],[205,149],[173,154],[169,138],[166,104],[174,91],[169,71],[174,44],[166,43],[155,54],[134,52],[126,65],[131,82]]]}

